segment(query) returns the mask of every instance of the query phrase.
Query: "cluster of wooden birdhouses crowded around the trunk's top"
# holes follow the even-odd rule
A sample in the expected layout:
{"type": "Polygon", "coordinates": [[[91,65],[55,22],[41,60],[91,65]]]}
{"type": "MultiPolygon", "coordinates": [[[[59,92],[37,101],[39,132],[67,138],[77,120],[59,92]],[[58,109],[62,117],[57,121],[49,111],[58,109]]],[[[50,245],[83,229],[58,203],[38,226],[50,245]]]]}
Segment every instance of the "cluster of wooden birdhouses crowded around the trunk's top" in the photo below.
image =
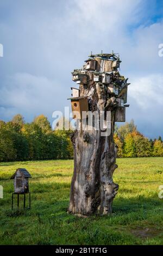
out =
{"type": "Polygon", "coordinates": [[[128,78],[120,75],[120,57],[115,53],[92,54],[85,60],[82,69],[76,69],[72,72],[72,80],[79,85],[79,88],[71,87],[72,97],[71,107],[74,119],[82,119],[82,112],[89,111],[90,84],[95,86],[101,83],[107,92],[107,99],[116,98],[117,107],[115,111],[115,121],[126,121],[127,103],[127,83],[128,78]],[[83,95],[82,88],[88,88],[88,95],[83,95]]]}

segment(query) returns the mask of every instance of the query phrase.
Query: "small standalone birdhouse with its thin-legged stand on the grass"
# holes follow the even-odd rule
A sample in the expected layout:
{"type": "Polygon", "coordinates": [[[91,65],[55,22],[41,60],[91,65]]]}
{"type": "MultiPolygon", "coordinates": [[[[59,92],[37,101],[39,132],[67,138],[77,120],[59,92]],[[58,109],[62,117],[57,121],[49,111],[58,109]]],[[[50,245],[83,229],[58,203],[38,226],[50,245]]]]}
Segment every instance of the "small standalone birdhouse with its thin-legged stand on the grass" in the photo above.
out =
{"type": "Polygon", "coordinates": [[[28,170],[24,168],[18,168],[10,179],[14,179],[14,193],[12,193],[12,209],[14,194],[17,194],[17,207],[19,207],[19,195],[24,195],[24,209],[26,207],[26,194],[29,193],[29,209],[30,209],[30,192],[28,178],[32,178],[28,170]]]}

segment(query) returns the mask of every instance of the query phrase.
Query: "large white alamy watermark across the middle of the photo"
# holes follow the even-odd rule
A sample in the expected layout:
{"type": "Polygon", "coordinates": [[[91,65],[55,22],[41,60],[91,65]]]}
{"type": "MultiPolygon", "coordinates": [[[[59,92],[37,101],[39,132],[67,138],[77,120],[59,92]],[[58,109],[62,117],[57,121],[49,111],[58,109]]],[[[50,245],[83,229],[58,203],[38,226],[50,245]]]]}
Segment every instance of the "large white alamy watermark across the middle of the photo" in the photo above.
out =
{"type": "Polygon", "coordinates": [[[54,111],[52,117],[53,130],[83,130],[101,131],[101,136],[109,136],[111,133],[111,112],[110,111],[73,111],[65,107],[65,113],[54,111]]]}

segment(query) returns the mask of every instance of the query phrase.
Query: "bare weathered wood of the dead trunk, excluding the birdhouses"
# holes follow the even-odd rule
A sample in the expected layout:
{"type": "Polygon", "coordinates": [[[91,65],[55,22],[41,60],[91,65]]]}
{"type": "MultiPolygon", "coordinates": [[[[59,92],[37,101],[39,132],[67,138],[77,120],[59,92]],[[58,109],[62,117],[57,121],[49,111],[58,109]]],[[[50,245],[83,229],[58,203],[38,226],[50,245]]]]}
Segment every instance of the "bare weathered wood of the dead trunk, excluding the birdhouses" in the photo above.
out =
{"type": "MultiPolygon", "coordinates": [[[[118,190],[118,185],[112,179],[117,168],[114,126],[118,102],[114,94],[108,96],[105,84],[93,82],[92,74],[87,72],[87,75],[90,80],[86,85],[80,84],[80,96],[89,97],[89,110],[92,112],[111,111],[111,133],[101,136],[102,131],[95,130],[95,127],[88,131],[74,131],[74,172],[68,212],[106,215],[111,214],[112,201],[118,190]]],[[[82,128],[81,120],[79,125],[82,128]]]]}

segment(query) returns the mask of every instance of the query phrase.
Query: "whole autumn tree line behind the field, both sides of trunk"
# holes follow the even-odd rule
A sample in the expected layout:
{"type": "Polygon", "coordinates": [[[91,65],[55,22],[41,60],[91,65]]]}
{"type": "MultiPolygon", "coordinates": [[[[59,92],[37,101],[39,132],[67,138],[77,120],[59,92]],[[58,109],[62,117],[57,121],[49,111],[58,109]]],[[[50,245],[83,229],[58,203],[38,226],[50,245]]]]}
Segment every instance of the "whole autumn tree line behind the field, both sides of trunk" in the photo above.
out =
{"type": "MultiPolygon", "coordinates": [[[[11,121],[0,120],[0,162],[72,159],[73,145],[69,130],[52,130],[45,115],[26,123],[21,114],[11,121]]],[[[163,142],[143,136],[131,120],[120,127],[115,126],[114,141],[118,147],[117,157],[163,156],[163,142]]]]}

